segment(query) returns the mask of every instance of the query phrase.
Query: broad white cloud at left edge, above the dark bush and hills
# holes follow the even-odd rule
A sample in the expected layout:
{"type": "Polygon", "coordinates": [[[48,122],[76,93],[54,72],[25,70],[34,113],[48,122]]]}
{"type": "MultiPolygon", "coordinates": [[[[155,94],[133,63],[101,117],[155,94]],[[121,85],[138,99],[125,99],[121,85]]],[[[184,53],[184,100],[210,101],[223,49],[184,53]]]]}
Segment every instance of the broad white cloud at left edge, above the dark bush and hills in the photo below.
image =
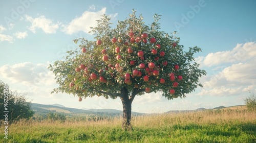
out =
{"type": "Polygon", "coordinates": [[[23,83],[30,86],[55,84],[54,74],[47,69],[49,64],[33,64],[31,62],[4,65],[0,67],[0,77],[12,83],[23,83]]]}

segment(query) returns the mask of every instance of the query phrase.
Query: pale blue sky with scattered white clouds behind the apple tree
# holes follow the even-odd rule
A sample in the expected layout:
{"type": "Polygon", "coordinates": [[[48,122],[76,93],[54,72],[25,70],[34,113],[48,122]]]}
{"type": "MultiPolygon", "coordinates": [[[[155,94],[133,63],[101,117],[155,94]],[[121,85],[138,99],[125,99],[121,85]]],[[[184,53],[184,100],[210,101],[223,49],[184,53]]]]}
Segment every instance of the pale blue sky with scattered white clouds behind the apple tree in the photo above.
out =
{"type": "Polygon", "coordinates": [[[135,98],[133,111],[243,105],[249,91],[256,91],[255,7],[252,0],[0,1],[0,80],[12,90],[27,93],[33,103],[122,110],[120,99],[94,97],[78,102],[73,95],[50,94],[57,85],[47,66],[76,49],[73,39],[93,40],[89,27],[95,27],[100,15],[111,15],[114,27],[135,9],[148,25],[155,13],[162,15],[161,30],[177,31],[184,50],[201,47],[203,52],[195,57],[207,76],[200,79],[204,87],[186,99],[168,101],[160,92],[145,94],[135,98]]]}

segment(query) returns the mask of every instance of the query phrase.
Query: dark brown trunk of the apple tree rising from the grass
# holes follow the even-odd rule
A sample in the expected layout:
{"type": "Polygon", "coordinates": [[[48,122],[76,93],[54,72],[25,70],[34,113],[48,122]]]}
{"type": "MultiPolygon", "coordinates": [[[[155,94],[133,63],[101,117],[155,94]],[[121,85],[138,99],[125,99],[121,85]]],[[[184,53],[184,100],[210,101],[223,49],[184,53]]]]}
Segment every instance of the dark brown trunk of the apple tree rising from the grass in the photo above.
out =
{"type": "Polygon", "coordinates": [[[126,88],[122,89],[122,96],[120,97],[123,104],[123,123],[122,128],[124,130],[132,130],[132,99],[129,99],[129,92],[126,88]]]}

